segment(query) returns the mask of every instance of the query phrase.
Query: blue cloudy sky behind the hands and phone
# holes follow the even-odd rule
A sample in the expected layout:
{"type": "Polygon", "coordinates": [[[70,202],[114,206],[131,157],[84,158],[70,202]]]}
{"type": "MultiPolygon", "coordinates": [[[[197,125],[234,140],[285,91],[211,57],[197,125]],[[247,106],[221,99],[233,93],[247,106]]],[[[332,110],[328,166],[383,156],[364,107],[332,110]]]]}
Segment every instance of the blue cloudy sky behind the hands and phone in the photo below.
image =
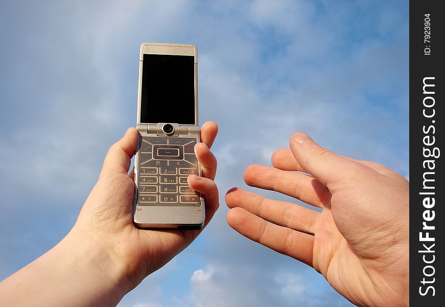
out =
{"type": "Polygon", "coordinates": [[[193,43],[199,121],[220,128],[221,207],[120,306],[350,305],[228,227],[224,194],[255,190],[244,168],[270,165],[296,130],[408,178],[408,15],[408,1],[2,1],[0,279],[68,233],[136,124],[141,42],[193,43]]]}

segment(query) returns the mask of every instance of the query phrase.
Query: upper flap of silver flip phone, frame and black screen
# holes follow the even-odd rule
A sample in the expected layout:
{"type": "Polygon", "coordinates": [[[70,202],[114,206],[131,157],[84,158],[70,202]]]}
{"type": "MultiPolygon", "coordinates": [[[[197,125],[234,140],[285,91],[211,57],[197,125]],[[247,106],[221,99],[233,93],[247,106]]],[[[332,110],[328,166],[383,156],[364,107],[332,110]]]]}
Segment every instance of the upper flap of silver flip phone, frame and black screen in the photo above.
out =
{"type": "Polygon", "coordinates": [[[197,48],[141,45],[137,124],[198,125],[197,48]]]}

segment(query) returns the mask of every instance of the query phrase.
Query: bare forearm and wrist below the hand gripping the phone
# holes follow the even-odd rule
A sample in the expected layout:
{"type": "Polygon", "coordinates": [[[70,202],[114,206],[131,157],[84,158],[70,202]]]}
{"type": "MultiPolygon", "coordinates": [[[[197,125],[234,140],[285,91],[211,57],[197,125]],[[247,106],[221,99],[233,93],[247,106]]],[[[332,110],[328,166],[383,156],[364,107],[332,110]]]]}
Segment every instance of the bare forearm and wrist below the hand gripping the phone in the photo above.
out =
{"type": "Polygon", "coordinates": [[[127,289],[128,282],[104,246],[73,229],[53,249],[0,283],[0,292],[4,293],[2,303],[5,306],[117,305],[126,294],[123,289],[127,289]]]}

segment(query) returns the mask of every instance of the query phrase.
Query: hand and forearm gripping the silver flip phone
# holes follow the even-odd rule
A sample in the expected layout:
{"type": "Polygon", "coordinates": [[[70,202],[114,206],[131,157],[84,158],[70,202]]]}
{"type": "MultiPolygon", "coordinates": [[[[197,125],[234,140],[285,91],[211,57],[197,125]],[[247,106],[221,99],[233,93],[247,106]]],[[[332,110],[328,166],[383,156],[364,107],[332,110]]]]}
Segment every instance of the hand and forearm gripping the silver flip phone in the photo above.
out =
{"type": "MultiPolygon", "coordinates": [[[[203,177],[196,180],[192,176],[188,181],[205,199],[204,226],[218,208],[218,190],[213,182],[216,159],[209,150],[216,132],[215,123],[203,125],[203,143],[194,148],[203,177]]],[[[135,183],[127,171],[137,142],[138,131],[130,128],[110,147],[73,229],[50,251],[0,283],[2,306],[65,306],[73,302],[79,306],[115,306],[201,232],[135,227],[131,216],[135,183]]]]}

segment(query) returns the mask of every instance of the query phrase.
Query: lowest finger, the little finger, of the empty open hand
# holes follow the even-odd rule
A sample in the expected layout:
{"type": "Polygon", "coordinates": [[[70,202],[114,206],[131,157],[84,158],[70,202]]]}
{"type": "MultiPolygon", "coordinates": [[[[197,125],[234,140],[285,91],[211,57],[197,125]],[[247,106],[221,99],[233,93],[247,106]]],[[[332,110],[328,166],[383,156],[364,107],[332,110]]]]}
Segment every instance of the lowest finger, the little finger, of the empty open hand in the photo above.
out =
{"type": "Polygon", "coordinates": [[[227,212],[227,223],[243,236],[312,266],[314,236],[268,223],[238,207],[227,212]]]}

